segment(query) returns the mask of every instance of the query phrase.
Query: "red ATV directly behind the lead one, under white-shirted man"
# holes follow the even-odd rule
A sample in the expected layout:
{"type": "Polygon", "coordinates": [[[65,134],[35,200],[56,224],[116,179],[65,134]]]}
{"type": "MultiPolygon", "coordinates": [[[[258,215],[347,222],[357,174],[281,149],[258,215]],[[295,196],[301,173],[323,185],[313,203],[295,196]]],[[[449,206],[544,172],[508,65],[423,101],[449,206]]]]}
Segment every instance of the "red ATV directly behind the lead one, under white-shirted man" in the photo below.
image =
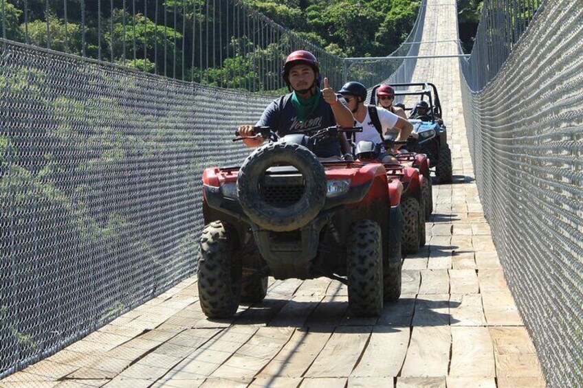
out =
{"type": "MultiPolygon", "coordinates": [[[[407,144],[407,141],[395,141],[395,137],[387,135],[382,143],[374,144],[372,141],[359,141],[355,148],[356,157],[363,162],[378,163],[377,159],[382,154],[382,149],[387,150],[384,155],[398,155],[393,150],[395,144],[407,144]]],[[[422,163],[427,163],[421,156],[422,163]]],[[[397,180],[402,183],[404,190],[401,193],[401,213],[404,217],[403,233],[401,234],[401,249],[403,253],[417,253],[419,247],[426,244],[426,177],[420,174],[419,169],[412,166],[403,166],[398,160],[384,163],[389,181],[397,180]]],[[[421,164],[423,166],[423,164],[421,164]]]]}

